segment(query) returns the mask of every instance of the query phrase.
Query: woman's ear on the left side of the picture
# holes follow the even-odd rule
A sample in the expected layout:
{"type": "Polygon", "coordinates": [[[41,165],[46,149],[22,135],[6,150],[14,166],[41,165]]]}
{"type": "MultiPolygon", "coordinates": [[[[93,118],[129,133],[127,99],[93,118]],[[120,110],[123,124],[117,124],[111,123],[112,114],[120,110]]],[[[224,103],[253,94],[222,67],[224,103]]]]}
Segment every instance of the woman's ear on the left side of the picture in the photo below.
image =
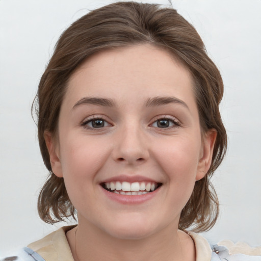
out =
{"type": "Polygon", "coordinates": [[[59,148],[57,142],[55,141],[53,134],[50,132],[44,132],[45,144],[49,151],[51,170],[58,177],[63,177],[62,165],[60,161],[59,148]]]}

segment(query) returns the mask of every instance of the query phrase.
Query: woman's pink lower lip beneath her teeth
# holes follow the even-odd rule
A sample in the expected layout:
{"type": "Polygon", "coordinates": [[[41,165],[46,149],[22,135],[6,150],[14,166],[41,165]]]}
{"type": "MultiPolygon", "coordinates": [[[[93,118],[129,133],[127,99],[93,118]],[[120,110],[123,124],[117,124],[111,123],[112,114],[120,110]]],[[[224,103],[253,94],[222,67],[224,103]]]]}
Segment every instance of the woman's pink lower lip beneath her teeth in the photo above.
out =
{"type": "Polygon", "coordinates": [[[141,204],[147,200],[152,199],[154,196],[156,196],[156,194],[158,194],[160,189],[161,189],[161,187],[152,192],[148,192],[148,193],[142,194],[142,195],[122,195],[122,194],[110,192],[101,187],[101,190],[103,191],[103,193],[105,193],[105,195],[108,198],[110,198],[114,201],[117,201],[119,203],[122,203],[122,204],[141,204]]]}

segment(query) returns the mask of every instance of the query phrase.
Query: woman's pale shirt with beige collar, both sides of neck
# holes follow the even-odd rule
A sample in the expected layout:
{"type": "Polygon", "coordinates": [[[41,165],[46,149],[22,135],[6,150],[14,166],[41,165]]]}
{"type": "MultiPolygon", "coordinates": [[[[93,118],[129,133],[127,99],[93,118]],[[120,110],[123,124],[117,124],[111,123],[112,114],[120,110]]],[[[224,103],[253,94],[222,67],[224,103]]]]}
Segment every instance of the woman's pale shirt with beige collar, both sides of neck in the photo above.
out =
{"type": "MultiPolygon", "coordinates": [[[[61,227],[25,247],[18,256],[7,257],[0,261],[74,261],[66,238],[66,232],[73,227],[61,227]]],[[[188,234],[195,244],[196,261],[261,261],[261,247],[251,248],[245,243],[233,244],[227,240],[211,246],[200,234],[194,232],[188,234]]]]}

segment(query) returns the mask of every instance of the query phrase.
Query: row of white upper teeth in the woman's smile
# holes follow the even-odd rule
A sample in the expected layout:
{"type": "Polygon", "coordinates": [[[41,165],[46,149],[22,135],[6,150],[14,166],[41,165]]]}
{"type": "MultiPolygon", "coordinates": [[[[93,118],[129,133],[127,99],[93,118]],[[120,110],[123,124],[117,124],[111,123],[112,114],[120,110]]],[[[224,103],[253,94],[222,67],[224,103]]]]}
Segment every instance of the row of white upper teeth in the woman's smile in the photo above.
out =
{"type": "Polygon", "coordinates": [[[111,190],[122,190],[122,191],[153,191],[155,190],[154,182],[127,182],[127,181],[112,181],[106,182],[106,188],[111,190]]]}

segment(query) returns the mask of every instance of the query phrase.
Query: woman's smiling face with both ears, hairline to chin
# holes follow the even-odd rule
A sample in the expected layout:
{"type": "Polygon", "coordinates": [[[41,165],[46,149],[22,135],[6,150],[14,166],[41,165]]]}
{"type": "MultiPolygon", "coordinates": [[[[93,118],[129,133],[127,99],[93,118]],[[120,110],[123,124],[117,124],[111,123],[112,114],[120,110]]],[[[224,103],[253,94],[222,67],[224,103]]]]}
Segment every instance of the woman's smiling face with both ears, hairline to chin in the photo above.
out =
{"type": "Polygon", "coordinates": [[[201,137],[189,71],[151,45],[89,58],[68,83],[58,136],[45,139],[79,225],[128,239],[177,229],[216,137],[201,137]]]}

